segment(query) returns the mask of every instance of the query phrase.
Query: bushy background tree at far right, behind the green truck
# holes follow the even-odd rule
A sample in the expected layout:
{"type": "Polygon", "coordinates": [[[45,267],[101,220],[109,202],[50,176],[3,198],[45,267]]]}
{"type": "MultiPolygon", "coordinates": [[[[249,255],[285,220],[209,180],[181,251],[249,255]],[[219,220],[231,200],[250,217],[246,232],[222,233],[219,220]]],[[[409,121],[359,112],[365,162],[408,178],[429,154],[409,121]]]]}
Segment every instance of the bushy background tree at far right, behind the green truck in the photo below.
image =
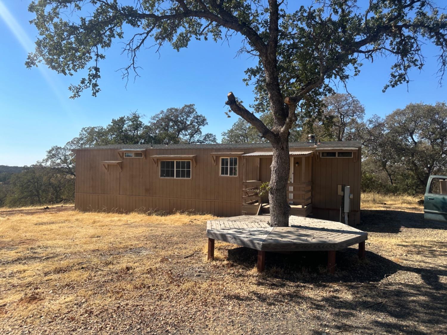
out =
{"type": "Polygon", "coordinates": [[[391,182],[411,181],[423,192],[428,177],[447,173],[447,106],[409,104],[384,119],[369,120],[366,157],[379,165],[391,182]]]}

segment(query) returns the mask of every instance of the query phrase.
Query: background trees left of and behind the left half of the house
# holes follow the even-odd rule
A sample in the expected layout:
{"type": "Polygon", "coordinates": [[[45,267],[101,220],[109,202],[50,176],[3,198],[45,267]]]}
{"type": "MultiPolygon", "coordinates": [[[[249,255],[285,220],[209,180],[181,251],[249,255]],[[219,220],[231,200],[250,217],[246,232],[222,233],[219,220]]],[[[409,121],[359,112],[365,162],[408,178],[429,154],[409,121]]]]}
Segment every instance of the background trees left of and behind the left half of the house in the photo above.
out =
{"type": "Polygon", "coordinates": [[[207,118],[194,105],[168,108],[148,123],[137,111],[112,119],[107,126],[82,128],[63,147],[53,146],[46,157],[29,167],[0,167],[0,207],[73,202],[76,157],[73,149],[109,144],[216,143],[214,134],[203,134],[207,118]]]}

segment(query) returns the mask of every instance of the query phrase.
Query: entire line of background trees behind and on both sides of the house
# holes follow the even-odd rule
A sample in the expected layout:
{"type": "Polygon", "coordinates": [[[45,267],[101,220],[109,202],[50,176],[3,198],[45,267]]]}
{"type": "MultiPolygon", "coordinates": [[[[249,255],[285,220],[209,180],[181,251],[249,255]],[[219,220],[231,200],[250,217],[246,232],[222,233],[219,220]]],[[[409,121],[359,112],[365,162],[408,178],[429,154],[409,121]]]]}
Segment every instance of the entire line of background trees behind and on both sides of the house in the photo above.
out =
{"type": "MultiPolygon", "coordinates": [[[[363,144],[362,192],[423,193],[428,177],[447,174],[447,105],[409,104],[385,117],[365,120],[365,109],[354,96],[335,94],[322,99],[314,112],[303,113],[290,131],[290,141],[360,140],[363,144]]],[[[132,112],[107,126],[82,128],[63,147],[29,167],[0,166],[0,206],[39,205],[74,201],[76,161],[72,149],[110,144],[216,143],[203,134],[207,119],[194,105],[169,108],[153,115],[132,112]]],[[[273,118],[261,113],[271,126],[273,118]]],[[[222,133],[223,143],[267,142],[248,122],[238,119],[222,133]]]]}

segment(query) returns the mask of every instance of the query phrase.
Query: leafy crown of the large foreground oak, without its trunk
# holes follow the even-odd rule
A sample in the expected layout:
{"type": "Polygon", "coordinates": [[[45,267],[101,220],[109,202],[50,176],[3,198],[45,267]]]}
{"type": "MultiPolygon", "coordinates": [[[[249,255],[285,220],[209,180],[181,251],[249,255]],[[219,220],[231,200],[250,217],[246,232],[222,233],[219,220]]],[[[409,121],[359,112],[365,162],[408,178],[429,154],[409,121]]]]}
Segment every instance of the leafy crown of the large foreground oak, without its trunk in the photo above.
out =
{"type": "MultiPolygon", "coordinates": [[[[277,66],[284,96],[294,96],[304,85],[318,81],[320,71],[327,80],[347,80],[348,67],[354,74],[359,71],[359,54],[370,60],[380,53],[395,55],[385,88],[408,82],[409,68],[423,66],[420,38],[439,46],[444,71],[446,15],[429,0],[371,0],[363,10],[356,0],[316,1],[290,13],[284,1],[277,7],[277,66]]],[[[274,33],[265,0],[141,0],[134,5],[117,0],[37,0],[29,10],[36,15],[31,22],[40,38],[26,65],[43,61],[64,75],[87,67],[88,75],[70,88],[73,96],[86,88],[93,95],[99,92],[99,62],[114,39],[126,39],[126,26],[131,26],[138,32],[127,38],[125,51],[131,64],[126,71],[136,70],[136,54],[143,46],[169,43],[180,50],[191,38],[217,41],[242,34],[240,52],[260,57],[258,67],[247,70],[248,80],[255,82],[258,101],[264,97],[262,58],[274,33]]],[[[319,92],[328,91],[326,81],[319,92]]]]}

